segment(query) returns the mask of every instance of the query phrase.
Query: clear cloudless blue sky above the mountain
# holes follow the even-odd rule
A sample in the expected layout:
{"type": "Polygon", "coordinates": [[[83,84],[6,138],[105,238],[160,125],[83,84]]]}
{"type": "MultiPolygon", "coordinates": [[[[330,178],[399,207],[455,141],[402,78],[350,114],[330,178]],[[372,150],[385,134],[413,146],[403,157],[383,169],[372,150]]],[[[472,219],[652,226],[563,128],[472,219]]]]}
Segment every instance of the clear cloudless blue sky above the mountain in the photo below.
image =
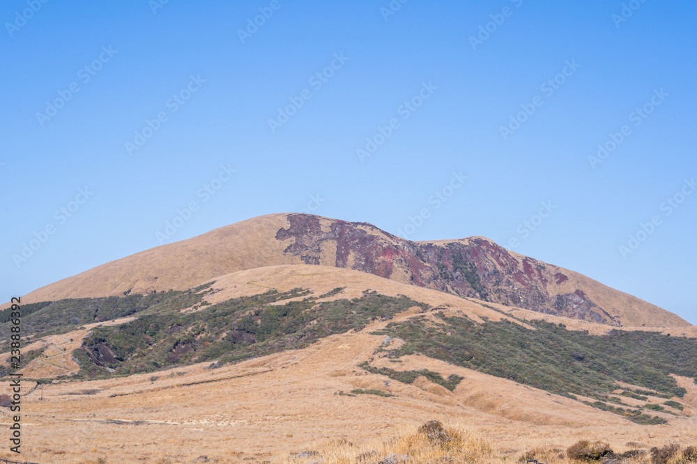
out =
{"type": "Polygon", "coordinates": [[[489,237],[697,323],[696,19],[670,0],[4,1],[0,299],[305,209],[489,237]]]}

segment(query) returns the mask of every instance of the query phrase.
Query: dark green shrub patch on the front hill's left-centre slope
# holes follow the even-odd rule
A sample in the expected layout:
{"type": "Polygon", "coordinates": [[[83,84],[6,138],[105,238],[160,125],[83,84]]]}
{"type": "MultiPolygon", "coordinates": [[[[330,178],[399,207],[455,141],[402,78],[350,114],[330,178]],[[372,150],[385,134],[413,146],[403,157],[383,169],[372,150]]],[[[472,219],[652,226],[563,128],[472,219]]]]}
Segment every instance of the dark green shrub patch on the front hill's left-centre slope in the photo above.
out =
{"type": "Polygon", "coordinates": [[[197,312],[144,311],[128,323],[100,326],[75,351],[80,375],[107,375],[108,369],[113,369],[112,375],[128,375],[207,360],[237,362],[301,349],[328,335],[392,319],[409,307],[424,307],[405,296],[375,291],[351,301],[321,303],[318,297],[302,298],[307,294],[302,289],[268,291],[206,305],[197,312]],[[296,301],[284,302],[291,298],[296,301]]]}

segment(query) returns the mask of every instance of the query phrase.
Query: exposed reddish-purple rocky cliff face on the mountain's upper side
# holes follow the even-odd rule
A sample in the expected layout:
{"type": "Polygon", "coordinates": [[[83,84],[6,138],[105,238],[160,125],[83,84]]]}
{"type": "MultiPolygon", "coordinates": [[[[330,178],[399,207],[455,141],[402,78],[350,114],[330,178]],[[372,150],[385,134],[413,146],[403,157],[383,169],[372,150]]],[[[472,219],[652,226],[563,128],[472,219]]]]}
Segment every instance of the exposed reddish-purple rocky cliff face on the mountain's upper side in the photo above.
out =
{"type": "MultiPolygon", "coordinates": [[[[355,269],[420,287],[447,291],[528,310],[621,326],[583,289],[562,290],[568,276],[556,266],[513,255],[487,239],[420,243],[395,237],[367,223],[291,214],[276,233],[289,241],[284,253],[305,264],[323,264],[335,254],[337,267],[355,269]],[[293,239],[293,240],[289,240],[293,239]]],[[[568,287],[568,285],[565,285],[568,287]]]]}

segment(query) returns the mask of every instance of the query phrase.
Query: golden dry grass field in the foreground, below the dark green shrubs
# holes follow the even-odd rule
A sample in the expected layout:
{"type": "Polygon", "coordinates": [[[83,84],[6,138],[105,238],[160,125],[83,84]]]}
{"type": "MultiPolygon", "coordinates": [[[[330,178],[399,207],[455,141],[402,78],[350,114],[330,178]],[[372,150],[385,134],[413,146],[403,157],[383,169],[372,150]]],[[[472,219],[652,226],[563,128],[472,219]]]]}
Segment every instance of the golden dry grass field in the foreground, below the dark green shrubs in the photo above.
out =
{"type": "MultiPolygon", "coordinates": [[[[407,317],[413,314],[395,319],[407,317]]],[[[425,378],[388,385],[385,376],[356,367],[363,361],[388,365],[376,352],[384,337],[369,334],[385,323],[237,365],[161,371],[154,381],[153,374],[139,374],[52,383],[43,387],[44,401],[39,401],[40,390],[29,393],[30,385],[22,399],[22,457],[56,464],[100,458],[107,463],[190,463],[199,456],[218,463],[262,463],[339,445],[346,453],[378,449],[417,456],[420,442],[410,434],[431,419],[462,424],[467,440],[482,439],[491,447],[491,462],[515,460],[534,447],[565,449],[581,438],[605,440],[620,451],[627,442],[653,447],[697,440],[693,417],[638,426],[568,398],[421,356],[389,365],[458,374],[464,380],[454,392],[425,378]],[[395,396],[337,394],[356,388],[395,396]],[[96,392],[85,394],[90,390],[96,392]],[[381,442],[390,447],[378,447],[381,442]]],[[[9,419],[0,408],[0,422],[9,419]]]]}

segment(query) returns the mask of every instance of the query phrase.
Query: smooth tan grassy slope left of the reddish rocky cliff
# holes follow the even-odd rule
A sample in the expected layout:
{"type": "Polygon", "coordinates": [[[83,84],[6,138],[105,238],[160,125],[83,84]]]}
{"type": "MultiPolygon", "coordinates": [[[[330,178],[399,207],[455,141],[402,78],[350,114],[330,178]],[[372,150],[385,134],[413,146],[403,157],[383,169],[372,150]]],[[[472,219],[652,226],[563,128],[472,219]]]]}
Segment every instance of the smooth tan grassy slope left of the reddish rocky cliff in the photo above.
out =
{"type": "Polygon", "coordinates": [[[187,290],[217,275],[241,269],[302,264],[299,257],[283,253],[289,242],[275,239],[279,228],[288,227],[286,216],[270,214],[248,219],[117,259],[32,291],[22,302],[121,296],[129,289],[139,294],[187,290]]]}

